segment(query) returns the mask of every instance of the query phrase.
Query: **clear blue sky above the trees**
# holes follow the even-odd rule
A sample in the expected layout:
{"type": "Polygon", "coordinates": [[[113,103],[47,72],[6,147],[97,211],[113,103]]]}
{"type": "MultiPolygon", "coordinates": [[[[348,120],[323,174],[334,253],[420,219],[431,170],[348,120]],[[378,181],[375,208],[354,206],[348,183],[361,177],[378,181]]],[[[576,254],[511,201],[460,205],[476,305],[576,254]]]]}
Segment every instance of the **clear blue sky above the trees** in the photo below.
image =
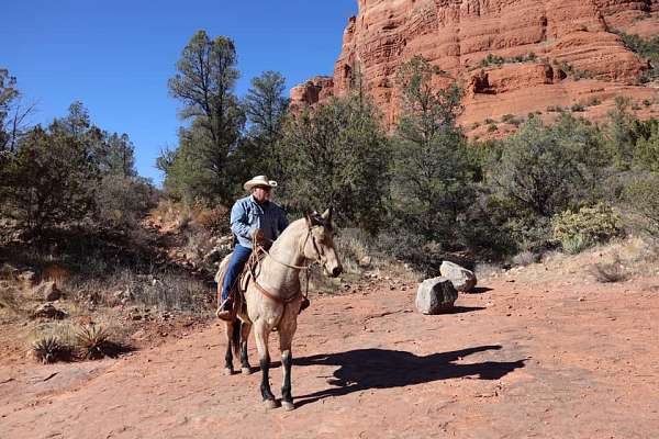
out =
{"type": "Polygon", "coordinates": [[[131,136],[139,173],[158,182],[154,160],[176,146],[181,124],[167,79],[196,31],[234,38],[239,95],[264,70],[281,71],[290,88],[332,74],[357,1],[21,0],[0,11],[0,68],[37,101],[32,122],[82,101],[97,125],[131,136]]]}

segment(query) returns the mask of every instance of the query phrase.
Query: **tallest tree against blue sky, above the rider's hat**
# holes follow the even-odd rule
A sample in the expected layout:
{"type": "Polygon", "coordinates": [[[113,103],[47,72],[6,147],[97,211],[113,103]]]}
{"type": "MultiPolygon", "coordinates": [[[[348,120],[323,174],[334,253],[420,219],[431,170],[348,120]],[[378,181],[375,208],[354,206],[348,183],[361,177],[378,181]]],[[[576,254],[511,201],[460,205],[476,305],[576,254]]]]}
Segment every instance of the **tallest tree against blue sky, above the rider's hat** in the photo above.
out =
{"type": "Polygon", "coordinates": [[[179,130],[179,147],[158,159],[165,170],[165,188],[192,203],[228,203],[238,189],[236,172],[243,169],[238,155],[245,111],[234,88],[238,78],[232,40],[211,40],[197,32],[183,48],[169,91],[180,100],[181,119],[190,126],[179,130]]]}

